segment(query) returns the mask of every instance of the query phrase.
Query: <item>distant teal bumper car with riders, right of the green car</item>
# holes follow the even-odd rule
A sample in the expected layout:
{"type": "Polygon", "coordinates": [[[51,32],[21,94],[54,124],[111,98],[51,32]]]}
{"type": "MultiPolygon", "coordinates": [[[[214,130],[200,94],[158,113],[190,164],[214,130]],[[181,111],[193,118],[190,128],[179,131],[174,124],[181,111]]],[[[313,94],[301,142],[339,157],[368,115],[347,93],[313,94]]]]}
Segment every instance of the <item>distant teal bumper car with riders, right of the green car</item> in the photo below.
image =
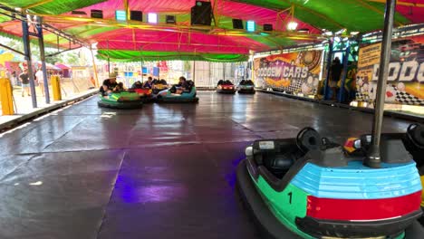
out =
{"type": "Polygon", "coordinates": [[[169,90],[160,91],[156,96],[156,101],[159,103],[196,103],[198,102],[196,87],[194,86],[193,81],[189,81],[188,84],[191,85],[190,89],[187,92],[182,92],[177,94],[174,91],[174,87],[169,90]]]}

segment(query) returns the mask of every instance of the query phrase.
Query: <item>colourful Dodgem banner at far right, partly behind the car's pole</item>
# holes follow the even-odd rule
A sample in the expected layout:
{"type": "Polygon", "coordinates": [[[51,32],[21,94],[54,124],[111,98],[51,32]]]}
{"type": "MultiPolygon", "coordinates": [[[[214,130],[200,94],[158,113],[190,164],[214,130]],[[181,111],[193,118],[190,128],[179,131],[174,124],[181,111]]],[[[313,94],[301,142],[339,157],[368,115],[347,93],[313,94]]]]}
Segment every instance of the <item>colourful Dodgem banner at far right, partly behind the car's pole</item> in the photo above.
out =
{"type": "MultiPolygon", "coordinates": [[[[424,35],[393,39],[385,101],[424,106],[424,35]]],[[[363,46],[356,74],[356,100],[375,100],[381,43],[363,46]]]]}

